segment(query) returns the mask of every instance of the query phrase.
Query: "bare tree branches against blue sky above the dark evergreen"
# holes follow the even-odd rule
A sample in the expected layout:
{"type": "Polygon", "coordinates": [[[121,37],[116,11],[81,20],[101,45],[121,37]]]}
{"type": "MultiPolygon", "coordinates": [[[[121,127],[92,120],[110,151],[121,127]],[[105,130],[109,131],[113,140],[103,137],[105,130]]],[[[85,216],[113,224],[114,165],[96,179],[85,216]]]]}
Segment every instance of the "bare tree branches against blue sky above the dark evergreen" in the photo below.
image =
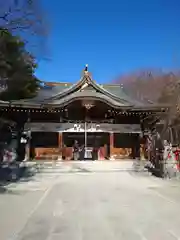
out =
{"type": "Polygon", "coordinates": [[[40,0],[0,0],[0,28],[20,36],[36,57],[45,57],[48,27],[40,0]]]}

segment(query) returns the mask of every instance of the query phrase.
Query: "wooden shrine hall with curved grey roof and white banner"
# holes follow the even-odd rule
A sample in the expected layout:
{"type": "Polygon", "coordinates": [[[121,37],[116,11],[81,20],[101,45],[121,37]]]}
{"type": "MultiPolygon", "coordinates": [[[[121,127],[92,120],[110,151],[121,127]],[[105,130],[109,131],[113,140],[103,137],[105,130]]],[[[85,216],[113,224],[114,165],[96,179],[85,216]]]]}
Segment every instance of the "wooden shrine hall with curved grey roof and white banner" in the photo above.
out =
{"type": "Polygon", "coordinates": [[[143,132],[162,106],[140,102],[121,85],[97,84],[86,68],[75,83],[45,82],[33,99],[0,102],[3,116],[30,134],[30,155],[37,159],[71,160],[77,140],[92,158],[139,157],[143,132]]]}

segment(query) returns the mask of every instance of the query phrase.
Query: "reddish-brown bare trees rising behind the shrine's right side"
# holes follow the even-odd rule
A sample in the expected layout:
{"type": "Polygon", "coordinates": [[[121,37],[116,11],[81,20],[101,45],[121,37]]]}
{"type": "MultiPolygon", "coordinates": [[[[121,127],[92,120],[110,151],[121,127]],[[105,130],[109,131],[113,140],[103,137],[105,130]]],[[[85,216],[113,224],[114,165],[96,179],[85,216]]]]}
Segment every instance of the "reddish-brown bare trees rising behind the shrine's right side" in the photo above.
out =
{"type": "MultiPolygon", "coordinates": [[[[154,119],[162,120],[161,136],[173,139],[180,133],[180,77],[179,73],[161,71],[138,71],[121,77],[116,82],[123,83],[124,89],[139,100],[150,100],[152,103],[165,104],[168,111],[156,114],[154,119]],[[173,129],[173,130],[172,130],[173,129]]],[[[180,134],[179,134],[180,137],[180,134]]]]}

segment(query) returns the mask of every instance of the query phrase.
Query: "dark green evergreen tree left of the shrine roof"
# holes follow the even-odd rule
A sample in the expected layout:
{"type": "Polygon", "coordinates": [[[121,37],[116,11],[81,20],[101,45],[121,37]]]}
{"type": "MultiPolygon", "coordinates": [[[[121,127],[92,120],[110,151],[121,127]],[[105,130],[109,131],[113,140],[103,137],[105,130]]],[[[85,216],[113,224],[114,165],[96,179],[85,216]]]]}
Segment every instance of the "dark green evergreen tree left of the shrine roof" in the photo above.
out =
{"type": "Polygon", "coordinates": [[[36,94],[39,80],[34,71],[35,59],[26,50],[25,43],[13,36],[7,29],[0,29],[0,84],[6,90],[0,94],[1,100],[30,98],[36,94]]]}

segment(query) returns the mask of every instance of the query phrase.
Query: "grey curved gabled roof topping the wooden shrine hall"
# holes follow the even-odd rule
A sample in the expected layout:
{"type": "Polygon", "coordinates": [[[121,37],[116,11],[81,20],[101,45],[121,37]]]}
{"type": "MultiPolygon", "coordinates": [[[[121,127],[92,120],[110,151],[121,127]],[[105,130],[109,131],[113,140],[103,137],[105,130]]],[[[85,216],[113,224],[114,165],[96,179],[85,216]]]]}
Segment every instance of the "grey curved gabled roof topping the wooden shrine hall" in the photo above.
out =
{"type": "Polygon", "coordinates": [[[54,106],[64,107],[75,100],[100,100],[114,108],[142,108],[154,107],[153,104],[145,104],[126,94],[120,85],[97,84],[91,77],[87,68],[83,76],[75,84],[69,83],[45,83],[38,95],[33,99],[12,101],[12,104],[21,106],[54,106]]]}

